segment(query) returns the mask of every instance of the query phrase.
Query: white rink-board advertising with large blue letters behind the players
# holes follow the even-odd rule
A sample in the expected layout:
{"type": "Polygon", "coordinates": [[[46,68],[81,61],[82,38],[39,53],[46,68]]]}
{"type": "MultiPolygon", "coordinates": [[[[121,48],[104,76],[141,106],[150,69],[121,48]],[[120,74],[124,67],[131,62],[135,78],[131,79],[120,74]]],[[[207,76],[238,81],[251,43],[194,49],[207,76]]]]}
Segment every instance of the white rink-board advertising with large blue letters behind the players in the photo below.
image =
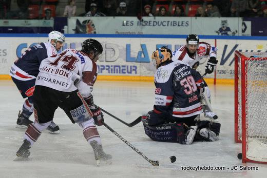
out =
{"type": "MultiPolygon", "coordinates": [[[[88,37],[66,37],[63,49],[81,49],[82,42],[88,37]]],[[[245,38],[245,37],[244,37],[245,38]]],[[[174,51],[185,44],[184,38],[122,38],[96,37],[103,45],[103,54],[97,62],[99,75],[154,76],[156,71],[151,62],[152,52],[161,46],[174,51]]],[[[17,57],[36,42],[46,42],[46,37],[0,37],[0,74],[8,74],[17,57]]],[[[234,52],[266,52],[265,41],[249,39],[200,39],[215,45],[217,51],[217,78],[234,78],[234,52]]],[[[207,58],[198,67],[204,73],[207,58]]],[[[208,74],[206,77],[214,77],[208,74]]]]}

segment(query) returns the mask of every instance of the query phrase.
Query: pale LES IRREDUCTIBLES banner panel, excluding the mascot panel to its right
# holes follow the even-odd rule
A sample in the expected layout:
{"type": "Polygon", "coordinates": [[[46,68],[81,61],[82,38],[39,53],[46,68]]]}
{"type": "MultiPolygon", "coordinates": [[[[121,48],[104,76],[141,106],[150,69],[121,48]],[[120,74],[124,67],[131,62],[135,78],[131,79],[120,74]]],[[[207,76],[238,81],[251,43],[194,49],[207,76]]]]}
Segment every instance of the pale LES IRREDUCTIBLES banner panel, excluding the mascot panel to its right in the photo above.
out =
{"type": "Polygon", "coordinates": [[[70,17],[68,33],[188,34],[190,17],[70,17]]]}

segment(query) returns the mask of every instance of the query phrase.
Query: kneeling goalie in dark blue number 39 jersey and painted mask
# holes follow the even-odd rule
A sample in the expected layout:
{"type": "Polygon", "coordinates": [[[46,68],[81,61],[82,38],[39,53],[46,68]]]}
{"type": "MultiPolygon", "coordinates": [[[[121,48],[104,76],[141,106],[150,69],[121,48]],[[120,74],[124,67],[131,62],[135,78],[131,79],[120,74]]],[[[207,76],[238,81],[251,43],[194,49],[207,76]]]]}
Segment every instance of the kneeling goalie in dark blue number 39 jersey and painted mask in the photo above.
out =
{"type": "Polygon", "coordinates": [[[155,105],[142,116],[145,133],[161,142],[192,144],[193,141],[216,141],[219,123],[195,121],[203,112],[200,88],[202,76],[181,61],[172,61],[167,47],[152,53],[155,73],[155,105]]]}

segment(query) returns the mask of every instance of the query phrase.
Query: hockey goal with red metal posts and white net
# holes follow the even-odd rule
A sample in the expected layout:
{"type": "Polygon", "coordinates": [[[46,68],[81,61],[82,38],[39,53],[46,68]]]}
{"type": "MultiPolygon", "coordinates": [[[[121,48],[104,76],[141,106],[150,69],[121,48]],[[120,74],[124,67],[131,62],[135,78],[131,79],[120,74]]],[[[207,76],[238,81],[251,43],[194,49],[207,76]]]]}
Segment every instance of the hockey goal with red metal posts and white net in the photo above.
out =
{"type": "Polygon", "coordinates": [[[235,51],[235,143],[243,163],[267,164],[267,53],[235,51]]]}

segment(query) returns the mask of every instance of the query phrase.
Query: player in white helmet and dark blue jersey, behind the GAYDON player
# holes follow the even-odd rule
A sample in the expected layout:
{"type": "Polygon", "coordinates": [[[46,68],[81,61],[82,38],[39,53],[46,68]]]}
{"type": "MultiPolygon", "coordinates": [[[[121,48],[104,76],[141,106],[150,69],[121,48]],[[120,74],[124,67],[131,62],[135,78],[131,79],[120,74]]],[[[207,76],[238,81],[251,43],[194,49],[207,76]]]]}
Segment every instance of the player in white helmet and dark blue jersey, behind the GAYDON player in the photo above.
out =
{"type": "MultiPolygon", "coordinates": [[[[39,66],[45,58],[57,54],[64,42],[62,33],[52,31],[48,34],[48,42],[28,48],[12,65],[9,74],[23,98],[27,98],[22,113],[18,113],[17,128],[27,128],[32,123],[29,117],[33,112],[33,92],[39,66]]],[[[59,133],[59,126],[52,122],[48,130],[50,133],[59,133]]]]}

